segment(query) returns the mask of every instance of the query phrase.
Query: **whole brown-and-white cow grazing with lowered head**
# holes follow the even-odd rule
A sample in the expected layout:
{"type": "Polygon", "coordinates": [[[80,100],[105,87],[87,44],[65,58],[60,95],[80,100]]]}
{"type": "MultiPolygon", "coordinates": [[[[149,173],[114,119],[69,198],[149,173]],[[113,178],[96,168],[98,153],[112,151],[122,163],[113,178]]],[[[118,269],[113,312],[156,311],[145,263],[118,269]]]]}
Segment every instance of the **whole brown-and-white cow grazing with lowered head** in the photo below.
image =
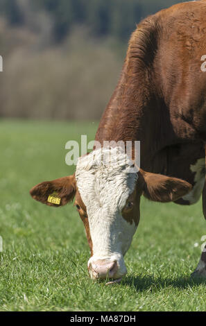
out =
{"type": "MultiPolygon", "coordinates": [[[[79,158],[74,175],[31,189],[35,200],[53,207],[75,198],[92,279],[119,282],[126,274],[123,256],[139,223],[141,195],[191,205],[203,194],[206,218],[205,17],[206,1],[180,3],[144,19],[132,33],[96,141],[141,141],[137,173],[130,173],[132,157],[120,148],[94,148],[79,158]]],[[[206,278],[206,252],[193,275],[206,278]]]]}

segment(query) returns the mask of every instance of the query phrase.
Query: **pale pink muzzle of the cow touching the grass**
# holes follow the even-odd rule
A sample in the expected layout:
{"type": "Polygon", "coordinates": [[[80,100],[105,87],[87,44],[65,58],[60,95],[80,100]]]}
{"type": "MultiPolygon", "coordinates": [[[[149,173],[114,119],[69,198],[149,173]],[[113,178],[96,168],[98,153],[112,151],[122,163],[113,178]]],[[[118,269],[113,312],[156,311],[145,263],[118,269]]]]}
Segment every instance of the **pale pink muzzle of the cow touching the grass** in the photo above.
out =
{"type": "Polygon", "coordinates": [[[117,261],[98,260],[90,264],[89,267],[92,277],[95,279],[112,278],[118,270],[117,261]]]}

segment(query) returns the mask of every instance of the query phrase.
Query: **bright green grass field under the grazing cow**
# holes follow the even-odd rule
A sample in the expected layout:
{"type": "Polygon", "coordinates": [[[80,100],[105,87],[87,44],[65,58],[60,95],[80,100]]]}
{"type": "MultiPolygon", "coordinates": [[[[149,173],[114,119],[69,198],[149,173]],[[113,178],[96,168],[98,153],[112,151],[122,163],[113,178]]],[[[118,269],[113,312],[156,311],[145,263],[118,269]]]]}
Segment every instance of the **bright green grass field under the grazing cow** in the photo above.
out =
{"type": "Polygon", "coordinates": [[[74,172],[65,164],[65,144],[81,134],[94,139],[96,128],[0,121],[0,310],[205,311],[205,282],[190,279],[206,234],[201,202],[181,207],[143,198],[128,275],[105,286],[89,280],[89,246],[73,205],[54,209],[29,196],[38,182],[74,172]]]}

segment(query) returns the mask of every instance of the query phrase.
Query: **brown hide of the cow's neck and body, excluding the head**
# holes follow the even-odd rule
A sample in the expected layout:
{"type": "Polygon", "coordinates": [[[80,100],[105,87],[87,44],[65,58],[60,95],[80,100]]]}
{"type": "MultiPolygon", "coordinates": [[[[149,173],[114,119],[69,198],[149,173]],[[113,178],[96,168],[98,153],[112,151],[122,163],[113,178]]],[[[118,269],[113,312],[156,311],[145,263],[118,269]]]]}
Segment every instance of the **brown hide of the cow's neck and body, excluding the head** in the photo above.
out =
{"type": "Polygon", "coordinates": [[[191,185],[190,166],[205,157],[205,17],[206,1],[179,3],[137,26],[96,132],[101,143],[141,141],[142,169],[191,185]]]}

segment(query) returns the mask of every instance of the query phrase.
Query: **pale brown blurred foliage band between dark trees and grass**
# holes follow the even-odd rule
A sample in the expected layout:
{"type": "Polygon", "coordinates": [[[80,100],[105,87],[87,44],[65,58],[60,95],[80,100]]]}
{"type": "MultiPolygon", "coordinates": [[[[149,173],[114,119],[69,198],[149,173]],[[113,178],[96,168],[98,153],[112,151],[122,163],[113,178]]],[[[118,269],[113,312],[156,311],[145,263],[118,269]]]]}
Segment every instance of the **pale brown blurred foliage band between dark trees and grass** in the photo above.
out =
{"type": "Polygon", "coordinates": [[[61,45],[44,47],[34,33],[15,29],[14,35],[0,24],[0,35],[5,33],[0,117],[101,117],[122,65],[109,40],[97,42],[76,28],[61,45]]]}

